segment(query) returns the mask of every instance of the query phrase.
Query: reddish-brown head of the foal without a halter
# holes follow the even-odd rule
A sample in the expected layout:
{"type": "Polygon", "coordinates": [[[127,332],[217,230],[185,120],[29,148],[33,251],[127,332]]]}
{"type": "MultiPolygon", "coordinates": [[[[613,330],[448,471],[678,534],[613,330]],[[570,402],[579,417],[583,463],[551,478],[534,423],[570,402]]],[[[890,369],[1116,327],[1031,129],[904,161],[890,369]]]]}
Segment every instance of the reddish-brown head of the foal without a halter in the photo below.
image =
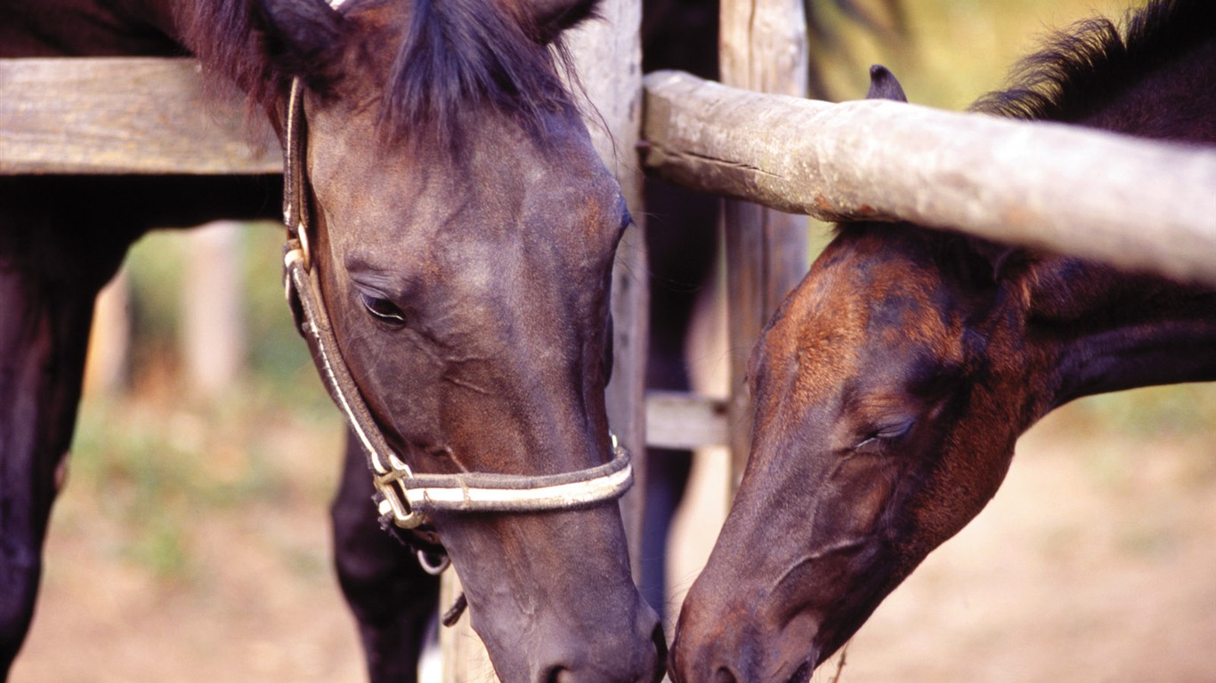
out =
{"type": "MultiPolygon", "coordinates": [[[[871,95],[902,98],[885,69],[871,95]]],[[[675,679],[806,681],[992,497],[1042,395],[1003,255],[840,226],[751,355],[751,453],[680,616],[675,679]]]]}

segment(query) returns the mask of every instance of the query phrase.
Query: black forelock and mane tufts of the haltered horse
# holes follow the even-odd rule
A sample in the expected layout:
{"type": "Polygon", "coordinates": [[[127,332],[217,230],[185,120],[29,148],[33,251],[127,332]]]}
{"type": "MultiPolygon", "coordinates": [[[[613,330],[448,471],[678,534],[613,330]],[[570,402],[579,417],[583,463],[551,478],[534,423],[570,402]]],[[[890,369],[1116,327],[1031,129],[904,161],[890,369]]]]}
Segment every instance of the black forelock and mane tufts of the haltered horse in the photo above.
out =
{"type": "MultiPolygon", "coordinates": [[[[349,0],[343,11],[358,4],[349,0]]],[[[573,74],[568,52],[530,38],[497,2],[413,0],[410,15],[384,84],[388,135],[458,146],[466,114],[488,106],[544,137],[546,114],[575,108],[562,81],[573,74]]],[[[258,0],[201,1],[179,24],[181,43],[247,92],[250,107],[274,107],[297,75],[320,92],[339,78],[325,55],[289,55],[258,0]]]]}

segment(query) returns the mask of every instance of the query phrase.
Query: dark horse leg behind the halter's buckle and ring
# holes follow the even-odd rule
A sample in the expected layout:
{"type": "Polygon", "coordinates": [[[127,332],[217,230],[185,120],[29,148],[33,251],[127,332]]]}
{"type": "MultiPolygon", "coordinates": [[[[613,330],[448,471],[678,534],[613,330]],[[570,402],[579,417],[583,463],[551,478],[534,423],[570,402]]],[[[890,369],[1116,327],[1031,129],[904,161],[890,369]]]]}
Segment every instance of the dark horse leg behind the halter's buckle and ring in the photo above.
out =
{"type": "Polygon", "coordinates": [[[359,625],[372,682],[412,683],[439,602],[439,578],[379,527],[372,491],[367,457],[348,433],[342,482],[331,509],[338,581],[359,625]]]}

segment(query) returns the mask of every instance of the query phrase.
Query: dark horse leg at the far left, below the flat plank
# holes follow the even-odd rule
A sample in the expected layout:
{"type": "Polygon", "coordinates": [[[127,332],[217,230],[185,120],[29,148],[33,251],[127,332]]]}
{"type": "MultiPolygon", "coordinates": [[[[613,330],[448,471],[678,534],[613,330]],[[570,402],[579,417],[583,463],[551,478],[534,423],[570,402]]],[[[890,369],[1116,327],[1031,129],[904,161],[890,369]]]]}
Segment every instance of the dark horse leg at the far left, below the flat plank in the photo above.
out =
{"type": "Polygon", "coordinates": [[[17,209],[0,203],[0,679],[34,614],[94,299],[129,243],[78,239],[78,226],[17,209]]]}

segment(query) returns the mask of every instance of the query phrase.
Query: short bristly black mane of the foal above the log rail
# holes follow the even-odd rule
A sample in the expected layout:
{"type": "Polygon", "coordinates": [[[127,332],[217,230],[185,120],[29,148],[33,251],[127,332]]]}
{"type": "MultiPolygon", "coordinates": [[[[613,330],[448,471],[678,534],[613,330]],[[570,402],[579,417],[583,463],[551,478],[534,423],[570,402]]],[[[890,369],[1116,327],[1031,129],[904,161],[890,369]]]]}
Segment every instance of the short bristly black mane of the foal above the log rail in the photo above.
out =
{"type": "Polygon", "coordinates": [[[1124,30],[1107,18],[1077,22],[1014,68],[1012,88],[970,109],[1019,119],[1076,122],[1111,94],[1205,40],[1216,27],[1212,0],[1152,0],[1128,12],[1124,30]]]}

